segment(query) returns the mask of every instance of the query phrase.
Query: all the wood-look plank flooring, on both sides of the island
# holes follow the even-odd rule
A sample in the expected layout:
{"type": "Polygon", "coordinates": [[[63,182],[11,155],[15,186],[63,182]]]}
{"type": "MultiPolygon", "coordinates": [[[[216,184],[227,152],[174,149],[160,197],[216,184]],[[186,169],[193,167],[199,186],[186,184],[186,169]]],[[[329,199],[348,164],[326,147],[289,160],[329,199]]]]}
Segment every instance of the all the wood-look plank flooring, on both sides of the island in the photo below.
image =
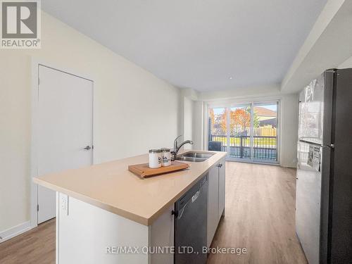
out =
{"type": "MultiPolygon", "coordinates": [[[[295,186],[294,169],[227,162],[225,217],[211,246],[246,253],[210,253],[208,264],[306,264],[294,227],[295,186]]],[[[0,244],[0,263],[54,264],[55,219],[0,244]]]]}

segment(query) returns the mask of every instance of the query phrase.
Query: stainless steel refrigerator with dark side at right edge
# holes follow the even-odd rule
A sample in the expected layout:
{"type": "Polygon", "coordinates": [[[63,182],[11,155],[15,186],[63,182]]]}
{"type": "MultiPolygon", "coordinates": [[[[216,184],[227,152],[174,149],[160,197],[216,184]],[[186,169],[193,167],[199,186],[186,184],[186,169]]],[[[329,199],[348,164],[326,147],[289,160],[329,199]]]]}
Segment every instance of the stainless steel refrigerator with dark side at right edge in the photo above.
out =
{"type": "Polygon", "coordinates": [[[308,263],[352,263],[352,68],[299,95],[296,233],[308,263]]]}

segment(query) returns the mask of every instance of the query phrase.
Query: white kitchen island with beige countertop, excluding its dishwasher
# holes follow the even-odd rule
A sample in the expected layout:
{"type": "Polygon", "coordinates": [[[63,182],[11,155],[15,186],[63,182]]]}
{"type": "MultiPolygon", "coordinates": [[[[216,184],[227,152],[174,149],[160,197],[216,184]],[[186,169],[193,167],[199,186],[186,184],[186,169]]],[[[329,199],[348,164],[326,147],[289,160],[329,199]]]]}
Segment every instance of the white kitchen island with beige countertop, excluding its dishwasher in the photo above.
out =
{"type": "Polygon", "coordinates": [[[34,178],[56,191],[56,263],[173,263],[174,203],[207,173],[210,246],[225,209],[225,153],[213,153],[146,179],[128,165],[148,155],[34,178]]]}

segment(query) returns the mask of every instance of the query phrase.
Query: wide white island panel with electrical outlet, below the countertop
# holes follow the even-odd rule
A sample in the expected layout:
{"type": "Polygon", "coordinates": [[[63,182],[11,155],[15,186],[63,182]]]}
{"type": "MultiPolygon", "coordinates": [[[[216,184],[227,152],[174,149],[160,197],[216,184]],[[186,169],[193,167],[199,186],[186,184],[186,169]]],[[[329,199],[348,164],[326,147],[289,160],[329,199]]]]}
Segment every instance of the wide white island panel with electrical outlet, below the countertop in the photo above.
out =
{"type": "Polygon", "coordinates": [[[62,193],[57,198],[57,264],[149,263],[141,250],[149,246],[149,227],[62,193]],[[114,246],[139,253],[113,253],[114,246]]]}

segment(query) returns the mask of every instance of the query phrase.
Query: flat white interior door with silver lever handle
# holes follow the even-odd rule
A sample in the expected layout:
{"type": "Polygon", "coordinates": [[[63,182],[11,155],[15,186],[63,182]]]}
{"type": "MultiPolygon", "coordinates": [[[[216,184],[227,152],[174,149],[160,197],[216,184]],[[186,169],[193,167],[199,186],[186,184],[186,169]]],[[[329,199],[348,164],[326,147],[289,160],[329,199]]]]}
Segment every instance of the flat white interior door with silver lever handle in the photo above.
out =
{"type": "MultiPolygon", "coordinates": [[[[93,82],[39,65],[38,92],[38,175],[92,165],[93,82]]],[[[38,208],[54,218],[55,191],[38,186],[38,208]]]]}

